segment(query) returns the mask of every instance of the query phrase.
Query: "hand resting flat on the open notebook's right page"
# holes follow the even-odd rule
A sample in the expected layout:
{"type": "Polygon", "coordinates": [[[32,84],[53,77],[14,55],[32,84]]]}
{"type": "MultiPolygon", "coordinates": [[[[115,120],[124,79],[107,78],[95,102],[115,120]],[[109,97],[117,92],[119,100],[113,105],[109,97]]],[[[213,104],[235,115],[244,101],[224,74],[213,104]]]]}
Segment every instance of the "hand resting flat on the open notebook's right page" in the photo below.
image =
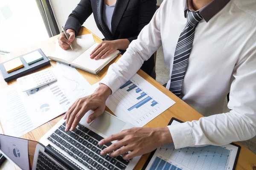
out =
{"type": "Polygon", "coordinates": [[[118,45],[115,40],[113,41],[102,41],[99,45],[91,52],[91,59],[104,59],[111,53],[118,49],[118,45]]]}

